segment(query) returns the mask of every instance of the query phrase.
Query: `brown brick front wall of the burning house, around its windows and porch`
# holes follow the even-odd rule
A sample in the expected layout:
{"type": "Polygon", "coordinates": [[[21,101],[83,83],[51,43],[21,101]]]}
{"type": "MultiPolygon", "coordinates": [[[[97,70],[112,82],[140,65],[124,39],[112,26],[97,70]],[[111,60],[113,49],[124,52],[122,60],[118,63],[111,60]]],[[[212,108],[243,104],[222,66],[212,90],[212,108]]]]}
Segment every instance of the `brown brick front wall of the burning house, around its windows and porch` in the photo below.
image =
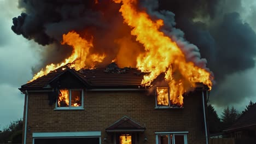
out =
{"type": "Polygon", "coordinates": [[[188,143],[205,143],[202,92],[184,98],[183,109],[155,109],[155,96],[145,91],[88,91],[84,93],[84,110],[54,110],[48,93],[28,94],[27,140],[32,133],[57,131],[101,131],[101,141],[112,137],[105,129],[123,116],[146,126],[139,143],[155,142],[155,132],[188,131],[188,143]]]}

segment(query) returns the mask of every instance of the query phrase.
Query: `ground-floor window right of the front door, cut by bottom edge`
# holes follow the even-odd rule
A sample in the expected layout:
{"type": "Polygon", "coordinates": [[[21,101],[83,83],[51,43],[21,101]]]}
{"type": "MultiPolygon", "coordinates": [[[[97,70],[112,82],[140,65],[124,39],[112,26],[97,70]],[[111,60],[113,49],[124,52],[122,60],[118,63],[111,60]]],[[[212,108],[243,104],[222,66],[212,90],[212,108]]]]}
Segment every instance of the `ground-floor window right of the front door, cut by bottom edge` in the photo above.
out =
{"type": "Polygon", "coordinates": [[[188,132],[158,132],[156,134],[156,144],[188,144],[188,132]]]}

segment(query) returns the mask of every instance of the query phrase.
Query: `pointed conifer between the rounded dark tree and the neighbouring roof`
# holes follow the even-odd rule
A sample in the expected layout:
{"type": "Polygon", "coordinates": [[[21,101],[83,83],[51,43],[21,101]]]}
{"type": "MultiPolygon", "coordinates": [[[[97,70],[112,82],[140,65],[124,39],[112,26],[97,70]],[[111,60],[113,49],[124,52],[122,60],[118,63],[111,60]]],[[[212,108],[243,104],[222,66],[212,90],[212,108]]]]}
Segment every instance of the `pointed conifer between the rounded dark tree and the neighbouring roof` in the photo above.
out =
{"type": "Polygon", "coordinates": [[[232,123],[236,121],[237,116],[237,111],[234,106],[232,106],[231,109],[229,106],[225,107],[221,115],[223,128],[230,127],[232,123]]]}

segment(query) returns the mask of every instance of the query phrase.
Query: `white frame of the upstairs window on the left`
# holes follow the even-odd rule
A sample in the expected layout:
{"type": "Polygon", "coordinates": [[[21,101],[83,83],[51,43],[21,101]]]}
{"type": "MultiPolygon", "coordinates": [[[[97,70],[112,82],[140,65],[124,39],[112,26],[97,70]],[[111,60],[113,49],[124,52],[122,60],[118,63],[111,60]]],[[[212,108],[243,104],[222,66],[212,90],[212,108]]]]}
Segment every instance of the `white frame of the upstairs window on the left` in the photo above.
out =
{"type": "MultiPolygon", "coordinates": [[[[60,92],[60,90],[61,89],[59,89],[59,92],[60,92]]],[[[56,100],[54,110],[84,110],[84,89],[68,89],[68,93],[69,93],[68,107],[58,107],[59,92],[58,92],[58,97],[56,100]],[[71,91],[81,91],[82,92],[82,100],[81,100],[82,105],[81,106],[71,106],[71,91]]]]}

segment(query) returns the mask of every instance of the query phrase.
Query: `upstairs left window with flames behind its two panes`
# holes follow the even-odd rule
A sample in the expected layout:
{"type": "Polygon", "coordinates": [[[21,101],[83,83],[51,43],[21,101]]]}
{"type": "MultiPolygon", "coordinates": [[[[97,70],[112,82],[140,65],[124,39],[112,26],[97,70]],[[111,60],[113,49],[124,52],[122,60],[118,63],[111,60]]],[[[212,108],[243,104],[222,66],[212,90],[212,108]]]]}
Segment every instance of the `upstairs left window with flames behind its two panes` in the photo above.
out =
{"type": "Polygon", "coordinates": [[[83,90],[60,89],[56,109],[83,109],[83,90]]]}

